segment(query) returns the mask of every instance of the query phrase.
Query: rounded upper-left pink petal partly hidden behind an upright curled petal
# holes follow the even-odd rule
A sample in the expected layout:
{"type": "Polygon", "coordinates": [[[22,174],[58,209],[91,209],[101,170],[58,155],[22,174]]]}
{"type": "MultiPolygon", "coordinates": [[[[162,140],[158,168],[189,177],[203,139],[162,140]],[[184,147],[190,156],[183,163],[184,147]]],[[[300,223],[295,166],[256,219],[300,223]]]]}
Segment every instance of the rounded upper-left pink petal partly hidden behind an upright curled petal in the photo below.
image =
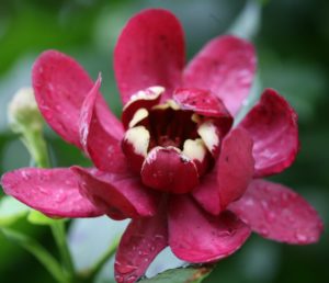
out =
{"type": "MultiPolygon", "coordinates": [[[[82,148],[79,138],[79,115],[82,102],[93,82],[83,68],[56,50],[43,53],[33,66],[32,82],[39,110],[65,140],[82,148]]],[[[111,124],[113,133],[122,135],[122,126],[99,95],[97,101],[101,123],[111,124]]],[[[109,126],[105,126],[109,129],[109,126]]]]}

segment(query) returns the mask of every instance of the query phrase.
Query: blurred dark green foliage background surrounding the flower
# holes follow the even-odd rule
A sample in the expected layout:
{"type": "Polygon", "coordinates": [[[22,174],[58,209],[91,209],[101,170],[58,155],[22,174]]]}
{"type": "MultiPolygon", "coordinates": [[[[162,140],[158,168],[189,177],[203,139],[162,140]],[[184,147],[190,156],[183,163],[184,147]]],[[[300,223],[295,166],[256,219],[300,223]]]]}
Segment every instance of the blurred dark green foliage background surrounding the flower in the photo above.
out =
{"type": "MultiPolygon", "coordinates": [[[[144,8],[163,7],[182,21],[191,58],[208,39],[231,31],[250,38],[259,56],[259,86],[281,92],[299,115],[300,154],[273,178],[294,188],[329,223],[329,1],[328,0],[0,0],[0,174],[30,158],[7,126],[7,104],[31,84],[36,56],[49,48],[77,58],[97,78],[120,115],[112,53],[124,23],[144,8]],[[237,21],[239,19],[239,21],[237,21]]],[[[47,129],[53,163],[86,165],[78,150],[47,129]]],[[[2,192],[0,192],[0,197],[2,192]]],[[[54,250],[47,228],[14,225],[54,250]]],[[[328,229],[317,245],[287,246],[252,236],[206,280],[216,282],[329,282],[328,229]]],[[[90,245],[95,245],[90,242],[90,245]]],[[[53,282],[25,250],[0,235],[0,282],[53,282]]]]}

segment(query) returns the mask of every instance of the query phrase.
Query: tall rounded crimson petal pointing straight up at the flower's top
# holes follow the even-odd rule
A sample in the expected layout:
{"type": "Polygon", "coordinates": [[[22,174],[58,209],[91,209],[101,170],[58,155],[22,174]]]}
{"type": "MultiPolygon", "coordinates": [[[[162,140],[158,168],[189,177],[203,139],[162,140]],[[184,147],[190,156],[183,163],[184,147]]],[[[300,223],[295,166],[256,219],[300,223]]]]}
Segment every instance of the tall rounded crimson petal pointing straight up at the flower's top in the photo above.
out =
{"type": "Polygon", "coordinates": [[[161,86],[167,99],[181,82],[184,66],[181,24],[169,11],[145,10],[126,24],[114,50],[114,70],[122,100],[138,90],[161,86]]]}

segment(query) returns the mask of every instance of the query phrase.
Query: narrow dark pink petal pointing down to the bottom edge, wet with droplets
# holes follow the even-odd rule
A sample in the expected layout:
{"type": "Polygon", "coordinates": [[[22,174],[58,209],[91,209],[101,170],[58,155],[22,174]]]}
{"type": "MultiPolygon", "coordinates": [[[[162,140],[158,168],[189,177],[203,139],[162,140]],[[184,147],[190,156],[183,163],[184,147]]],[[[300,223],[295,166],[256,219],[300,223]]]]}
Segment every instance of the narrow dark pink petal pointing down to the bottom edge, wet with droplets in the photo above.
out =
{"type": "Polygon", "coordinates": [[[167,246],[166,212],[160,211],[152,217],[133,219],[116,251],[114,264],[116,282],[136,282],[167,246]]]}

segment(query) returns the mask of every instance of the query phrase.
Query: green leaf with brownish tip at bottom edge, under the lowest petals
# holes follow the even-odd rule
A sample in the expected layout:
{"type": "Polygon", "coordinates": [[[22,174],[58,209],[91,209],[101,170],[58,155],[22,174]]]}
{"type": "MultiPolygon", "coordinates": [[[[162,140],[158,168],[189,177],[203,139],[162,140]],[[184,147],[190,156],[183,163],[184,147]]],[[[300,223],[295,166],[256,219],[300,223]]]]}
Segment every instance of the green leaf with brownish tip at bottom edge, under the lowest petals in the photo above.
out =
{"type": "Polygon", "coordinates": [[[214,265],[188,267],[167,270],[151,279],[144,279],[141,283],[200,283],[213,271],[214,265]]]}

